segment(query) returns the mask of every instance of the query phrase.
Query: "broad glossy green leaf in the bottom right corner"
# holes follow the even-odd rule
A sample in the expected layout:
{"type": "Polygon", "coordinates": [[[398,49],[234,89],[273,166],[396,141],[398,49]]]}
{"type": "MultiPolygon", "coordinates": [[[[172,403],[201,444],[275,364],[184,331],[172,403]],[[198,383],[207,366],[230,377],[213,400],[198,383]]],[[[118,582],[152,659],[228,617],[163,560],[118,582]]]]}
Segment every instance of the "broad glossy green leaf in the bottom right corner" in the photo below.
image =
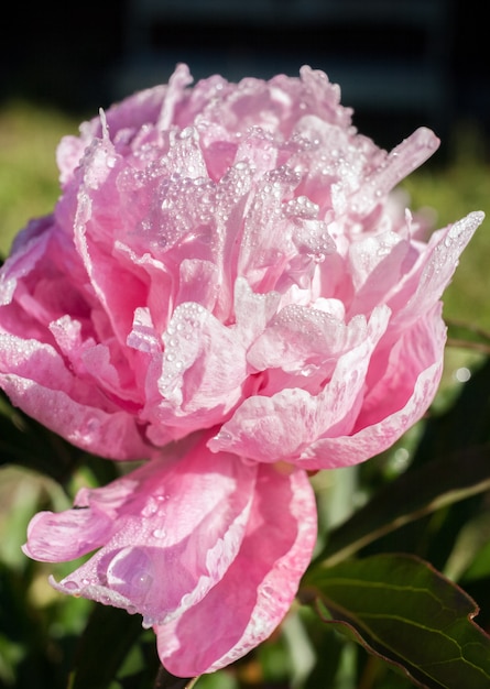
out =
{"type": "Polygon", "coordinates": [[[427,562],[383,554],[316,567],[301,597],[420,687],[490,687],[490,637],[472,621],[476,603],[427,562]]]}

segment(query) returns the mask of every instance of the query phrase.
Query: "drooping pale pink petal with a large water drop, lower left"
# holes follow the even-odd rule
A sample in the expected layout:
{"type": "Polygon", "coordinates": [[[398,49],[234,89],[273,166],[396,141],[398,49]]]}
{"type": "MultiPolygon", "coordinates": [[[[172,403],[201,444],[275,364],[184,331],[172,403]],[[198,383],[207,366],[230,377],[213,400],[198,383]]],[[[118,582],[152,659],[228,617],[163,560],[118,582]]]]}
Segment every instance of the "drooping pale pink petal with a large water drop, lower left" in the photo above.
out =
{"type": "Polygon", "coordinates": [[[139,612],[145,626],[164,623],[200,601],[233,561],[257,471],[186,441],[109,486],[81,491],[78,508],[37,515],[25,551],[64,561],[100,547],[53,586],[139,612]]]}

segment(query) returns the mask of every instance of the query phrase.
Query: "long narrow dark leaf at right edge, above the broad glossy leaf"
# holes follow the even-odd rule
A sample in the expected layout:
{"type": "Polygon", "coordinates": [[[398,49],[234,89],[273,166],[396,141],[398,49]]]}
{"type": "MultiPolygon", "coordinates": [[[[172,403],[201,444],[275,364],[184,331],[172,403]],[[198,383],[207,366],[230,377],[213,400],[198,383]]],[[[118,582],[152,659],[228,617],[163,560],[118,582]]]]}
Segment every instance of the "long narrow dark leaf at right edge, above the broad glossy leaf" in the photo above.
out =
{"type": "Polygon", "coordinates": [[[416,467],[334,529],[316,561],[334,565],[410,522],[489,489],[489,446],[467,448],[416,467]]]}

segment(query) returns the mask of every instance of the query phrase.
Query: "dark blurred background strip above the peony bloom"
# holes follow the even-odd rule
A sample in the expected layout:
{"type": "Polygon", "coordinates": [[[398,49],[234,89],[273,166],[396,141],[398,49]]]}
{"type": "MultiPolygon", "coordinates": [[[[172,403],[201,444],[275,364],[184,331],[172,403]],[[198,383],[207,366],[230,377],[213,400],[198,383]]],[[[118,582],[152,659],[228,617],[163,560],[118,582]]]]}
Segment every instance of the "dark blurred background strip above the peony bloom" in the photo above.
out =
{"type": "Polygon", "coordinates": [[[355,123],[391,146],[418,124],[490,134],[481,0],[61,0],[9,3],[0,105],[30,99],[92,114],[177,62],[195,78],[297,75],[340,84],[355,123]]]}

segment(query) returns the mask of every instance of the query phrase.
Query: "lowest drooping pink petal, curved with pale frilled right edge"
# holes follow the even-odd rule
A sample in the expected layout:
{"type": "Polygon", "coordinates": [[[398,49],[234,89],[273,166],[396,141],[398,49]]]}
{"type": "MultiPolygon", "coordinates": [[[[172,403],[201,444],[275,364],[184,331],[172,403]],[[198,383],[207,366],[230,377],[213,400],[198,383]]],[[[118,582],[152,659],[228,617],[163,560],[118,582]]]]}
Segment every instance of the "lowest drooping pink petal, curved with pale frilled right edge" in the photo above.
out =
{"type": "Polygon", "coordinates": [[[155,627],[164,666],[195,677],[233,663],[268,638],[293,602],[315,540],[307,475],[261,466],[247,533],[227,573],[181,617],[155,627]]]}

